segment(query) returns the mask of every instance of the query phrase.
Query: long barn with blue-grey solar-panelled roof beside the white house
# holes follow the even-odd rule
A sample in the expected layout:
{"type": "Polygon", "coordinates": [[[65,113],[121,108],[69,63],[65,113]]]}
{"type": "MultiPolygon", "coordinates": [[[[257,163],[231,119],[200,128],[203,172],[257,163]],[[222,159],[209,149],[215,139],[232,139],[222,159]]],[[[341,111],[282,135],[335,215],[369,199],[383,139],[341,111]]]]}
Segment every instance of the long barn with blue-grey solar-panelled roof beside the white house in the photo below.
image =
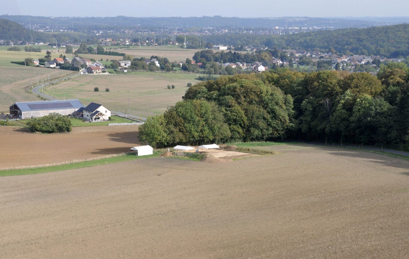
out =
{"type": "Polygon", "coordinates": [[[74,115],[74,112],[82,107],[84,105],[78,99],[16,102],[10,106],[10,115],[21,119],[42,117],[53,112],[74,115]]]}

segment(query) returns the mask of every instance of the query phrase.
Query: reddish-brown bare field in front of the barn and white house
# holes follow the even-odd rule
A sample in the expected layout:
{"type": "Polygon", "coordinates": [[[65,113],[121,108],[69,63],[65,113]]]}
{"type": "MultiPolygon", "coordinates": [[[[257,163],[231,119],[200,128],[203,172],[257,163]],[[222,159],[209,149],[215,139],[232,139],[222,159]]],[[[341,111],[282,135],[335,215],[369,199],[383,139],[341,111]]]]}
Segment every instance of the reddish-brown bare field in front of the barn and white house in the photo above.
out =
{"type": "Polygon", "coordinates": [[[0,169],[83,161],[127,152],[138,125],[73,127],[67,134],[33,134],[0,127],[0,169]]]}

